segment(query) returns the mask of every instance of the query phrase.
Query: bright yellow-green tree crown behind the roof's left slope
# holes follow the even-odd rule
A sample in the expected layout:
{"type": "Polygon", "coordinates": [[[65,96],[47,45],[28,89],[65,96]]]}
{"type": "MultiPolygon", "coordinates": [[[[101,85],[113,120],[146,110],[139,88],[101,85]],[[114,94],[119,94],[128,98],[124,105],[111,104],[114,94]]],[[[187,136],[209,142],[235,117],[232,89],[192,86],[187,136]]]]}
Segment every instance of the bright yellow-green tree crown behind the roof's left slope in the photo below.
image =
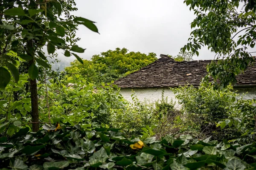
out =
{"type": "Polygon", "coordinates": [[[89,82],[111,82],[147,66],[156,59],[155,53],[146,55],[128,52],[126,48],[116,48],[115,51],[108,50],[100,55],[93,55],[91,60],[83,60],[84,64],[72,62],[65,71],[69,80],[77,79],[80,75],[89,82]]]}

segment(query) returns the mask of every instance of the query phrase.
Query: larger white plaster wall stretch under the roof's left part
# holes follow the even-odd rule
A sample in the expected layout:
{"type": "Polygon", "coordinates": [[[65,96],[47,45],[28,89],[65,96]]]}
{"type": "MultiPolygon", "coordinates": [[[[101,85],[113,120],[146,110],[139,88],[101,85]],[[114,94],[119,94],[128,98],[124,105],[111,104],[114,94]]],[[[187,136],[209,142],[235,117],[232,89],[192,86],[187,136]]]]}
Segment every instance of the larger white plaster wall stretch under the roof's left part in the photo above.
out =
{"type": "Polygon", "coordinates": [[[122,94],[122,96],[129,102],[132,102],[132,97],[131,97],[132,94],[135,94],[141,102],[145,100],[147,102],[155,102],[157,100],[162,99],[163,90],[164,90],[164,95],[163,95],[164,99],[166,99],[167,97],[168,102],[172,100],[173,102],[175,102],[175,107],[180,108],[180,105],[178,104],[178,100],[175,99],[175,94],[169,88],[145,88],[145,89],[133,89],[133,90],[121,89],[120,94],[122,94]]]}

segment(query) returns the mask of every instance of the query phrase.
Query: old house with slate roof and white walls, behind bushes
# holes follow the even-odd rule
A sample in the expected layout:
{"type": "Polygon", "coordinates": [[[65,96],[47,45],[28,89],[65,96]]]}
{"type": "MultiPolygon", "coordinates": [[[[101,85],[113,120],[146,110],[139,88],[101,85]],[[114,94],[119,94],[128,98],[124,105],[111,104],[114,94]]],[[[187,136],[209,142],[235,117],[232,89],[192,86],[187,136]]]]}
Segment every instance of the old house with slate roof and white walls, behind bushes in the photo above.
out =
{"type": "MultiPolygon", "coordinates": [[[[131,94],[135,92],[140,101],[149,100],[154,102],[162,97],[176,101],[175,94],[170,88],[184,85],[198,87],[202,77],[207,74],[206,66],[212,60],[194,60],[177,62],[167,55],[160,55],[160,58],[148,66],[122,77],[114,82],[120,93],[128,101],[132,101],[131,94]],[[134,92],[132,92],[134,91],[134,92]]],[[[237,76],[237,83],[234,90],[240,94],[248,92],[244,99],[256,98],[256,66],[247,68],[244,74],[237,76]]]]}

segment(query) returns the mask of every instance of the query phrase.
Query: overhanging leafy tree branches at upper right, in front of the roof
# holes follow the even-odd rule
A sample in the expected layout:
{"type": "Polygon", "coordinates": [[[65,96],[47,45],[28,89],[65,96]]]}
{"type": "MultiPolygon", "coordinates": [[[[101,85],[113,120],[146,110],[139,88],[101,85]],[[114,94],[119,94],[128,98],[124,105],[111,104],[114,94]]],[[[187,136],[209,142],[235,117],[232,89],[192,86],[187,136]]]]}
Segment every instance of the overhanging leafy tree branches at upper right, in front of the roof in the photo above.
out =
{"type": "Polygon", "coordinates": [[[236,83],[236,75],[255,62],[248,49],[256,41],[256,1],[185,0],[184,3],[196,18],[191,23],[189,42],[182,50],[198,55],[198,49],[207,46],[216,53],[216,59],[224,58],[207,66],[215,85],[226,87],[230,82],[236,83]]]}

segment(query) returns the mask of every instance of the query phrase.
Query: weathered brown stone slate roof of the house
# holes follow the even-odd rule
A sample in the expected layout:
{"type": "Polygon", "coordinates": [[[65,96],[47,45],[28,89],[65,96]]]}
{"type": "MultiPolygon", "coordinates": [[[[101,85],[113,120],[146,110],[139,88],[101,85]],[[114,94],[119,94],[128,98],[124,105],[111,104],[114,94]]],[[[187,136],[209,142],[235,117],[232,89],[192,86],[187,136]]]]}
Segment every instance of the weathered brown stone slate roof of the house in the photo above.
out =
{"type": "MultiPolygon", "coordinates": [[[[206,66],[212,60],[194,60],[177,62],[167,55],[148,66],[122,77],[114,82],[119,88],[167,88],[183,85],[198,86],[206,72],[206,66]]],[[[237,86],[256,86],[256,66],[247,68],[244,74],[237,76],[237,86]]]]}

